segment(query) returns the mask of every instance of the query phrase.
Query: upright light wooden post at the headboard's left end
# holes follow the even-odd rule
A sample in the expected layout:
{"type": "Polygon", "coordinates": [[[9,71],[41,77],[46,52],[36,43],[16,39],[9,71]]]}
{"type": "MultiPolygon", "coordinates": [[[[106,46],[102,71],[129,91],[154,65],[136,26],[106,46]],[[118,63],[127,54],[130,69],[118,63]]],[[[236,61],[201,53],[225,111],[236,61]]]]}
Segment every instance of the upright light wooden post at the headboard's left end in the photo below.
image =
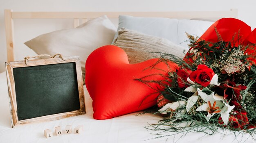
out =
{"type": "Polygon", "coordinates": [[[13,53],[13,19],[11,17],[11,9],[4,10],[5,17],[5,34],[7,46],[7,61],[14,61],[13,53]]]}

